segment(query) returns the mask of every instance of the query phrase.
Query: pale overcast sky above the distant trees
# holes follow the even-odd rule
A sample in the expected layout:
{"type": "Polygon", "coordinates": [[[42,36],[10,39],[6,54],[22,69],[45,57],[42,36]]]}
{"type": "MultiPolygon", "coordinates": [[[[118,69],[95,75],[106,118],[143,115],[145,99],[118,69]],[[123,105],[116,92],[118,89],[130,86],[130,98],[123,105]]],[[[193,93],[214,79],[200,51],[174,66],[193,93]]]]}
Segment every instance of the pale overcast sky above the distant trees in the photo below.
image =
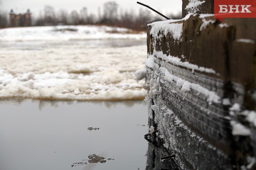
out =
{"type": "MultiPolygon", "coordinates": [[[[181,12],[182,0],[0,0],[2,1],[1,9],[5,11],[14,10],[15,13],[24,13],[29,8],[31,13],[38,15],[39,11],[44,9],[45,5],[50,5],[55,8],[55,11],[65,9],[71,12],[77,10],[78,12],[82,7],[86,7],[89,13],[98,14],[98,8],[103,10],[103,4],[108,1],[115,1],[119,5],[119,9],[130,10],[133,8],[138,11],[139,8],[146,7],[138,5],[139,1],[150,7],[167,15],[170,13],[181,12]]],[[[103,12],[101,12],[103,13],[103,12]]],[[[152,13],[154,13],[152,11],[152,13]]]]}

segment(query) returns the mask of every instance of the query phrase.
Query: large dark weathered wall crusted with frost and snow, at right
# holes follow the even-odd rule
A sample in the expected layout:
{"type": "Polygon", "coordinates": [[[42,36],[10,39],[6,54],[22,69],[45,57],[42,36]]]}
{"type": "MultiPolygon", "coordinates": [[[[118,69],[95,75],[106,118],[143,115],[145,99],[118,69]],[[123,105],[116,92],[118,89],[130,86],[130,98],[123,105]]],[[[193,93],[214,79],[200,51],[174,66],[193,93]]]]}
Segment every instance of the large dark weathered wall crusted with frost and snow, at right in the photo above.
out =
{"type": "Polygon", "coordinates": [[[170,25],[177,23],[183,24],[179,40],[172,29],[167,33],[165,28],[159,29],[153,35],[155,25],[148,26],[148,57],[153,55],[155,63],[147,66],[149,127],[159,129],[154,140],[161,140],[177,155],[173,159],[180,169],[246,168],[249,158],[256,155],[256,127],[245,113],[256,110],[256,19],[220,23],[213,16],[191,15],[170,25]],[[215,73],[172,63],[156,51],[215,73]],[[209,96],[197,89],[183,90],[177,80],[168,79],[163,68],[171,76],[214,92],[220,102],[209,102],[209,96]],[[230,111],[233,104],[240,109],[230,111]],[[250,134],[234,135],[231,121],[250,134]]]}

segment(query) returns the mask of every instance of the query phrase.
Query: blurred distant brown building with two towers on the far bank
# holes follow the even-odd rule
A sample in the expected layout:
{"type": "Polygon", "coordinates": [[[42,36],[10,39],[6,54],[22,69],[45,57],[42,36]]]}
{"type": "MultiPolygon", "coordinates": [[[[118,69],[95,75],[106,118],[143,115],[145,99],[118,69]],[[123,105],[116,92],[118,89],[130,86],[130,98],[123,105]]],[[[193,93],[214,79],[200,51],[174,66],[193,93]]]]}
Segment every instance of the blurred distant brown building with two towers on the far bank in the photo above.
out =
{"type": "Polygon", "coordinates": [[[31,12],[28,9],[24,14],[16,14],[10,10],[10,26],[11,27],[27,27],[31,26],[31,12]]]}

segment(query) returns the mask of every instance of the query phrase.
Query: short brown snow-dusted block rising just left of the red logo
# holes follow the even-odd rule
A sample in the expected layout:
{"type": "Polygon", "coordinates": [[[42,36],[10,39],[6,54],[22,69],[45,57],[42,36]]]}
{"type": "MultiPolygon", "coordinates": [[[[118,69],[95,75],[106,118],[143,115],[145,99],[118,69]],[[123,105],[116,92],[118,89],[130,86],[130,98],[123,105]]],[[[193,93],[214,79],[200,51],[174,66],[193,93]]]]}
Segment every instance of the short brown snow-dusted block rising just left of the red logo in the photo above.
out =
{"type": "Polygon", "coordinates": [[[214,13],[214,0],[182,0],[182,17],[184,18],[189,13],[206,13],[206,14],[213,14],[214,13]],[[195,7],[193,6],[193,2],[201,2],[200,5],[195,7]]]}

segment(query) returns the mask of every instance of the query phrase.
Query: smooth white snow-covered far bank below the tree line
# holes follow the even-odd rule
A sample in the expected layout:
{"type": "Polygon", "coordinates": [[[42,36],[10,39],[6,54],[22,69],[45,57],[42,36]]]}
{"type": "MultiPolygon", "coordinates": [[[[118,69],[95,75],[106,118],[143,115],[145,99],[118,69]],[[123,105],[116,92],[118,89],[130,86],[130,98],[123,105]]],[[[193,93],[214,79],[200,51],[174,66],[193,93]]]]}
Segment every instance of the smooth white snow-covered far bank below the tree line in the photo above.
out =
{"type": "Polygon", "coordinates": [[[146,33],[125,34],[129,29],[95,25],[33,26],[0,29],[1,41],[73,41],[91,39],[142,39],[146,33]],[[73,29],[76,31],[56,31],[73,29]],[[118,31],[119,33],[111,33],[118,31]]]}

